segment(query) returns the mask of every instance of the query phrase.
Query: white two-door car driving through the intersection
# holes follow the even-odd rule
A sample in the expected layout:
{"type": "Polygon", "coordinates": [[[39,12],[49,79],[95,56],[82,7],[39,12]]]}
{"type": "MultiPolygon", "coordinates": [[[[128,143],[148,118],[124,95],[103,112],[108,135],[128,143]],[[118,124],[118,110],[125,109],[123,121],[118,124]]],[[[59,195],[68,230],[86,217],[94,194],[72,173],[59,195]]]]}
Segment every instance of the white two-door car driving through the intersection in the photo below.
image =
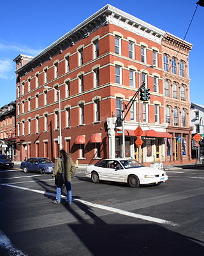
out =
{"type": "Polygon", "coordinates": [[[103,159],[94,165],[88,165],[85,175],[92,182],[109,180],[128,183],[132,188],[143,184],[161,184],[168,180],[166,172],[138,163],[135,159],[103,159]]]}

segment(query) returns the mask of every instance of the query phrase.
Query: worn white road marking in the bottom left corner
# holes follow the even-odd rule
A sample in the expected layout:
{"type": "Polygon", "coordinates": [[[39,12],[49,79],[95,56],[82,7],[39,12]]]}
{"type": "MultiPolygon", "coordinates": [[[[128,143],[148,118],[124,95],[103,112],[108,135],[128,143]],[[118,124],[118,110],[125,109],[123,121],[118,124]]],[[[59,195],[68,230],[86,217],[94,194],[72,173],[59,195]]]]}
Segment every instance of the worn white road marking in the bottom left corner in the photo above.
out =
{"type": "Polygon", "coordinates": [[[10,239],[4,234],[3,231],[0,230],[0,246],[6,250],[8,255],[20,255],[20,256],[28,256],[27,254],[21,252],[11,243],[10,239]]]}

